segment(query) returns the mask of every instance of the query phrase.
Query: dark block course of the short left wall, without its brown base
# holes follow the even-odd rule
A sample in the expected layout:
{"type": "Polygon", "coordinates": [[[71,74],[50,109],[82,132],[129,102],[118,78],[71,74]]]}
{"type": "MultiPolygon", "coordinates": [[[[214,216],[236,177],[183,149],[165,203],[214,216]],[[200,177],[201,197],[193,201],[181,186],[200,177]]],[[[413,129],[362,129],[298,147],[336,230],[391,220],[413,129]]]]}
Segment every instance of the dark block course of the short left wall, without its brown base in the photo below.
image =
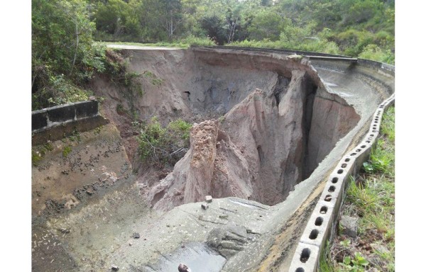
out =
{"type": "Polygon", "coordinates": [[[52,108],[43,108],[32,113],[32,131],[38,132],[55,125],[90,118],[98,115],[98,101],[82,101],[52,108]]]}

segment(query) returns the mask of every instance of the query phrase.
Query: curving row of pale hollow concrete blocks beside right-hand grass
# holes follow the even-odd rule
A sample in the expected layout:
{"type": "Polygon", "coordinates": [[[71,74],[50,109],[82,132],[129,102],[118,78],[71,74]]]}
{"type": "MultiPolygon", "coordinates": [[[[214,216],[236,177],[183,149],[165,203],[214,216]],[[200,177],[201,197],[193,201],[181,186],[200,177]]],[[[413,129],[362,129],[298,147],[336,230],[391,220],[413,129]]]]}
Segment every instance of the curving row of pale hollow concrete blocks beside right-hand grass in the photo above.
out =
{"type": "Polygon", "coordinates": [[[350,178],[356,176],[356,172],[369,157],[371,148],[376,145],[383,112],[393,103],[395,103],[395,94],[378,106],[367,135],[358,146],[344,155],[329,176],[320,200],[300,237],[289,272],[317,271],[322,250],[327,240],[334,236],[337,217],[346,188],[351,182],[350,178]]]}

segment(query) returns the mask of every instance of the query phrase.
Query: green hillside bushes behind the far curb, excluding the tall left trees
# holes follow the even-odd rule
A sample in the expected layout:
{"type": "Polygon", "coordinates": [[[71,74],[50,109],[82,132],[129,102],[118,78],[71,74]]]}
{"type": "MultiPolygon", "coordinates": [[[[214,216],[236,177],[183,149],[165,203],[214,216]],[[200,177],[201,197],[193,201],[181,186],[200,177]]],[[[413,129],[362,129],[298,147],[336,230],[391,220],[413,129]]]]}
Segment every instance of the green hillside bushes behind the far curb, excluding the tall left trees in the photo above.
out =
{"type": "Polygon", "coordinates": [[[92,1],[97,40],[236,45],[393,63],[395,3],[383,0],[92,1]],[[126,3],[127,2],[127,3],[126,3]],[[108,10],[108,13],[105,11],[108,10]],[[141,16],[143,14],[143,16],[141,16]],[[133,22],[129,25],[129,21],[133,22]]]}

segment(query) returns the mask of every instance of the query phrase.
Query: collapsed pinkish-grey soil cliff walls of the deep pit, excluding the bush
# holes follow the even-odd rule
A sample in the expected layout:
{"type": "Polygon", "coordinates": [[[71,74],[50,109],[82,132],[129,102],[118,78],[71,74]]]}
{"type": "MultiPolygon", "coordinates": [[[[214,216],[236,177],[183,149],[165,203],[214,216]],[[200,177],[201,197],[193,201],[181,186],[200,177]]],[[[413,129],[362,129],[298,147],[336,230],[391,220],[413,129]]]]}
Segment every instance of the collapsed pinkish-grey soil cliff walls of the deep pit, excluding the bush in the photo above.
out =
{"type": "Polygon", "coordinates": [[[102,79],[94,89],[112,98],[104,101],[104,114],[124,137],[141,193],[156,209],[206,195],[280,203],[359,121],[297,56],[220,50],[130,55],[132,72],[148,71],[162,83],[141,81],[143,96],[124,94],[102,79]],[[117,107],[133,115],[117,114],[117,107]],[[138,158],[139,132],[131,122],[154,115],[163,124],[176,118],[195,123],[190,150],[174,169],[153,169],[138,158]]]}

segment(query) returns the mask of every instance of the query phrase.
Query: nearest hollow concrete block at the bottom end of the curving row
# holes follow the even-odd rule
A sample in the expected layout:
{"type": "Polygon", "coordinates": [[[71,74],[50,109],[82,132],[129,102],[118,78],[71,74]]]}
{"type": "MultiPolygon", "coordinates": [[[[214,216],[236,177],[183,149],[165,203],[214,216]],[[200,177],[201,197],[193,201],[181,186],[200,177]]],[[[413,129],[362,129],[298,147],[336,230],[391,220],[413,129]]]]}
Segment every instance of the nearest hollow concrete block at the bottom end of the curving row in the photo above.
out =
{"type": "Polygon", "coordinates": [[[288,272],[317,271],[320,261],[320,249],[312,244],[299,242],[288,272]]]}

